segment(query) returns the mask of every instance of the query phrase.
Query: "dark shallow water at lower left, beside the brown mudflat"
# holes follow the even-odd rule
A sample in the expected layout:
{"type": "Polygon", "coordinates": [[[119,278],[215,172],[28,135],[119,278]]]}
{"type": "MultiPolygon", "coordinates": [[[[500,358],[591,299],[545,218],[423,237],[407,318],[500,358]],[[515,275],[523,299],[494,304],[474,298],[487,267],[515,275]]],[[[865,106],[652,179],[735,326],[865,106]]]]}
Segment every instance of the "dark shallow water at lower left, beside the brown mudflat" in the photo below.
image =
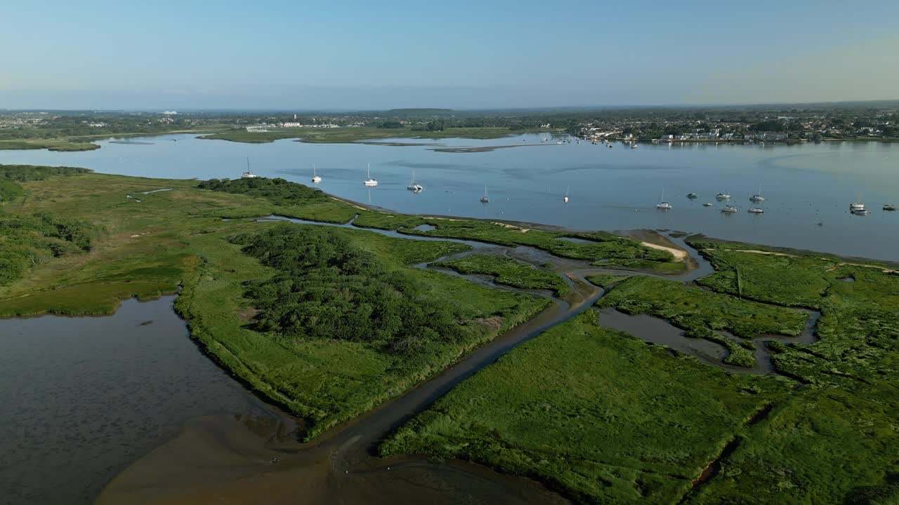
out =
{"type": "Polygon", "coordinates": [[[0,320],[0,503],[88,503],[190,418],[267,415],[200,353],[172,300],[0,320]]]}

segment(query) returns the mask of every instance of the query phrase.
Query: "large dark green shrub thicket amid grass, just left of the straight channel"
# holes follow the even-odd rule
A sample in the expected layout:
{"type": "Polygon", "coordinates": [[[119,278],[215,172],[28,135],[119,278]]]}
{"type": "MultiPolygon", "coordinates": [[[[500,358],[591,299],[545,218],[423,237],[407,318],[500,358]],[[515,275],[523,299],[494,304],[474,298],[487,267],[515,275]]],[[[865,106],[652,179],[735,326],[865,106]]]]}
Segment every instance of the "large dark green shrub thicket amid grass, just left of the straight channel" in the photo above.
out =
{"type": "Polygon", "coordinates": [[[463,337],[458,317],[400,269],[321,226],[277,226],[239,235],[244,253],[276,270],[246,297],[260,309],[256,329],[290,339],[338,339],[411,356],[463,337]]]}

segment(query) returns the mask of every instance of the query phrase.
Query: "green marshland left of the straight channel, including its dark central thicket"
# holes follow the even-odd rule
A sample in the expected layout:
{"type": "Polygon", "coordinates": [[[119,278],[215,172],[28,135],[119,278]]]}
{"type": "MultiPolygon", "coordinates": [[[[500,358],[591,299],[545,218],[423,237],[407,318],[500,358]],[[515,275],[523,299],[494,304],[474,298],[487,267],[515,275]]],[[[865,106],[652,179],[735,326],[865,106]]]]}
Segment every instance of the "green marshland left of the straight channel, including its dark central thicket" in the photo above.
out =
{"type": "Polygon", "coordinates": [[[300,185],[247,181],[200,190],[192,181],[95,173],[22,184],[28,199],[7,206],[4,217],[53,211],[100,231],[89,252],[50,257],[0,287],[0,315],[110,314],[121,298],[181,287],[176,308],[191,336],[304,417],[310,438],[404,393],[549,303],[405,266],[465,245],[221,219],[323,199],[300,185]],[[160,188],[172,190],[125,198],[160,188]],[[360,321],[363,299],[371,310],[360,321]]]}

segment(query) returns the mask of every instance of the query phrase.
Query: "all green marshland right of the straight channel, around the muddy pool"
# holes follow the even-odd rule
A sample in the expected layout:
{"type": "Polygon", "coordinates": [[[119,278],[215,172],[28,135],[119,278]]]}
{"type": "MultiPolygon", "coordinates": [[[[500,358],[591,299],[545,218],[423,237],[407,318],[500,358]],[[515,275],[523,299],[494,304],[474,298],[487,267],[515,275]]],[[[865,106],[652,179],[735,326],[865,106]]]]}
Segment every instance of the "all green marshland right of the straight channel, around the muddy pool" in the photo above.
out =
{"type": "Polygon", "coordinates": [[[470,459],[584,502],[894,502],[899,275],[826,254],[692,245],[717,269],[699,282],[718,292],[600,275],[590,280],[609,293],[597,305],[663,317],[725,345],[739,366],[753,364],[752,342],[719,332],[796,335],[806,315],[789,307],[820,309],[820,341],[766,342],[775,368],[796,380],[730,374],[583,315],[459,385],[382,452],[470,459]],[[710,394],[759,410],[697,407],[710,394]],[[651,420],[637,417],[645,412],[651,420]],[[668,461],[677,464],[660,466],[668,461]]]}

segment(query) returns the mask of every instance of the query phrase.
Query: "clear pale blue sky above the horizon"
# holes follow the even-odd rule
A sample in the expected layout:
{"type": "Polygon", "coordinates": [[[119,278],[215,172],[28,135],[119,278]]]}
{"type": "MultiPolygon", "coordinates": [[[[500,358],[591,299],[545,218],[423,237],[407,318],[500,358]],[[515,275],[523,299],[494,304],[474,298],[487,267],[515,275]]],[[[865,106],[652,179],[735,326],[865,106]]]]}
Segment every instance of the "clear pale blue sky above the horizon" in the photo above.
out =
{"type": "Polygon", "coordinates": [[[0,48],[11,109],[899,98],[896,0],[10,0],[0,48]]]}

